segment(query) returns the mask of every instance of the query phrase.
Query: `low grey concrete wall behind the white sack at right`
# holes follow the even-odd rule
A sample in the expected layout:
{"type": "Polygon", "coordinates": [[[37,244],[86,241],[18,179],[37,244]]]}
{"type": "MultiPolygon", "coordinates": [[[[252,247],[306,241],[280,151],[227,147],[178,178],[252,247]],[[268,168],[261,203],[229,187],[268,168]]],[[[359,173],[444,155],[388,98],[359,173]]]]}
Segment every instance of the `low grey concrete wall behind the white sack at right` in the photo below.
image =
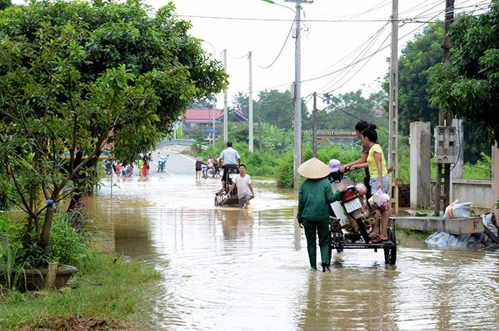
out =
{"type": "MultiPolygon", "coordinates": [[[[492,210],[494,200],[491,179],[454,179],[451,185],[451,202],[458,199],[461,203],[473,203],[473,208],[492,210]]],[[[431,180],[432,195],[434,190],[435,180],[431,180]]]]}

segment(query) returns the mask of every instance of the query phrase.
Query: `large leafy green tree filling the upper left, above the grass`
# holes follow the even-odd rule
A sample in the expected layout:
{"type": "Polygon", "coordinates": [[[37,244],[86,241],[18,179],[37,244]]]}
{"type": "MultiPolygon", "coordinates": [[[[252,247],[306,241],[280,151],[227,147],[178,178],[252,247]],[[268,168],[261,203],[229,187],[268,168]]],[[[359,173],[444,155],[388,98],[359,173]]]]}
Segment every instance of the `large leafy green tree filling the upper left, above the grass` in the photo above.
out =
{"type": "Polygon", "coordinates": [[[0,11],[0,170],[38,245],[48,244],[54,203],[94,180],[88,165],[103,146],[131,158],[193,99],[226,86],[174,10],[150,17],[139,0],[96,0],[0,11]]]}

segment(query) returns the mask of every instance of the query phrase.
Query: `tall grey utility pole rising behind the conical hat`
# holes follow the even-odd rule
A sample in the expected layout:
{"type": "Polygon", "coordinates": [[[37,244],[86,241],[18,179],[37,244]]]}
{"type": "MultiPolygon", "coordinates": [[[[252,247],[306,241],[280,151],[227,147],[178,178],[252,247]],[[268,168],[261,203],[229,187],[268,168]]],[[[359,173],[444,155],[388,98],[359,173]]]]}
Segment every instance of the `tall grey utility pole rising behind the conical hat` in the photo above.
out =
{"type": "Polygon", "coordinates": [[[299,174],[298,167],[302,163],[302,53],[300,19],[301,19],[301,4],[312,4],[314,1],[309,0],[285,0],[286,2],[296,3],[296,38],[294,43],[294,162],[293,162],[293,188],[299,189],[299,174]]]}

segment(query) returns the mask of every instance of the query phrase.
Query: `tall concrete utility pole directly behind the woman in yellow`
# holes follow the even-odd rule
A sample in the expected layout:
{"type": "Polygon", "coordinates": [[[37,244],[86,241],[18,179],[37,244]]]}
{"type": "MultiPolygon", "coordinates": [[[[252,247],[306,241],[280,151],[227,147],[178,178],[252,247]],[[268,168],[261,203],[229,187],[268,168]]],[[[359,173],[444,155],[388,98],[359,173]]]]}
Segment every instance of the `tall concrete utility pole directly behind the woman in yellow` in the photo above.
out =
{"type": "Polygon", "coordinates": [[[389,142],[388,163],[393,165],[391,180],[392,210],[398,214],[398,0],[391,2],[391,54],[389,93],[389,142]]]}

